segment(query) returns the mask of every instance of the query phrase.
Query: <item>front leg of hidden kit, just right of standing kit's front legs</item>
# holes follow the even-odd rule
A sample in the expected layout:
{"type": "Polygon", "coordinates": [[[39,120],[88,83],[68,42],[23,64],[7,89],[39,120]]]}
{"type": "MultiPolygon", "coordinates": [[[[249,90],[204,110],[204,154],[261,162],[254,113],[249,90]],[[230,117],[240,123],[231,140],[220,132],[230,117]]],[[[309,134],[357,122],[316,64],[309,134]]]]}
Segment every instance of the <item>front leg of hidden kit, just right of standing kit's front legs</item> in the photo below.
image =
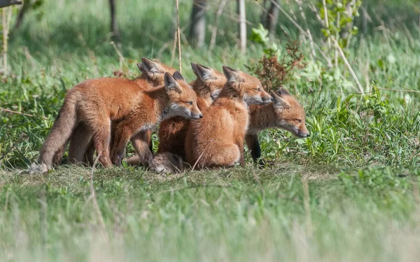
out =
{"type": "Polygon", "coordinates": [[[130,166],[149,166],[153,159],[152,131],[143,131],[131,138],[136,155],[127,159],[130,166]]]}

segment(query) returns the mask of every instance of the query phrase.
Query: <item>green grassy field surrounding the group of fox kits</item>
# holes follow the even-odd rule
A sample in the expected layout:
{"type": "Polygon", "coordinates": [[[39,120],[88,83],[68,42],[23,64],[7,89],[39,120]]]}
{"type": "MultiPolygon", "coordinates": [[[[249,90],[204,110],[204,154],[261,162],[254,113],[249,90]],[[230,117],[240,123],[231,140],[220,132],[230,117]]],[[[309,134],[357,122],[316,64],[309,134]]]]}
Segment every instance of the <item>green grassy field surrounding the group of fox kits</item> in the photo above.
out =
{"type": "MultiPolygon", "coordinates": [[[[20,31],[12,30],[0,107],[29,115],[0,111],[3,261],[417,261],[420,28],[414,3],[369,2],[365,34],[345,50],[364,94],[342,59],[328,68],[319,53],[311,59],[302,41],[307,66],[286,87],[304,105],[311,136],[261,133],[262,157],[270,163],[263,168],[246,153],[246,168],[168,177],[127,166],[92,172],[66,165],[29,175],[66,90],[116,71],[134,78],[141,57],[172,64],[172,3],[118,1],[121,60],[110,43],[107,2],[45,1],[20,31]]],[[[186,35],[190,2],[180,1],[186,35]]],[[[315,43],[334,57],[314,14],[306,12],[315,43]]],[[[228,4],[214,50],[195,50],[183,38],[187,80],[193,80],[191,61],[245,70],[262,57],[264,48],[251,41],[246,54],[239,52],[234,13],[228,4]]],[[[248,33],[258,27],[259,13],[249,1],[248,33]]],[[[299,34],[286,17],[279,24],[273,41],[283,55],[284,44],[299,34]]],[[[210,35],[211,28],[207,41],[210,35]]],[[[132,152],[129,146],[127,155],[132,152]]]]}

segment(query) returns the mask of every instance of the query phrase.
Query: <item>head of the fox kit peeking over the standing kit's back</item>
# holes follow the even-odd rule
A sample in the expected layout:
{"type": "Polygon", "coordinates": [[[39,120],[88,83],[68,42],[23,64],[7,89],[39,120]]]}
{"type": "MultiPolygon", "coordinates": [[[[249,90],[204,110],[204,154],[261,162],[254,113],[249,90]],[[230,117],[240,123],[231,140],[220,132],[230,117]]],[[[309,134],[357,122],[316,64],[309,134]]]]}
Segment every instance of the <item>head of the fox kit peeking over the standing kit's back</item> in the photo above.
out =
{"type": "Polygon", "coordinates": [[[141,63],[137,64],[141,71],[141,77],[147,80],[151,85],[160,87],[164,84],[165,73],[169,72],[173,74],[176,69],[171,66],[167,66],[158,61],[153,61],[146,57],[141,59],[141,63]]]}

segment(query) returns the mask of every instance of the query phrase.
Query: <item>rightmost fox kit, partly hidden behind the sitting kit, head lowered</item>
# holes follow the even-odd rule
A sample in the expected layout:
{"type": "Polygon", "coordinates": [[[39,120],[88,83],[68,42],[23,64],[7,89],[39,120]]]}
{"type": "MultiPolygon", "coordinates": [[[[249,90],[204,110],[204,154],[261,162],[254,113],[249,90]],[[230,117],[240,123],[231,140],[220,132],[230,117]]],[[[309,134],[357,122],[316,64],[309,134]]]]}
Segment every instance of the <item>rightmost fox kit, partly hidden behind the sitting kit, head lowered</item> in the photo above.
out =
{"type": "Polygon", "coordinates": [[[305,113],[296,99],[288,94],[286,89],[280,89],[278,94],[271,92],[274,99],[268,105],[250,105],[249,127],[245,140],[251,157],[257,161],[261,157],[258,133],[265,129],[286,129],[298,138],[307,138],[309,132],[305,126],[305,113]]]}

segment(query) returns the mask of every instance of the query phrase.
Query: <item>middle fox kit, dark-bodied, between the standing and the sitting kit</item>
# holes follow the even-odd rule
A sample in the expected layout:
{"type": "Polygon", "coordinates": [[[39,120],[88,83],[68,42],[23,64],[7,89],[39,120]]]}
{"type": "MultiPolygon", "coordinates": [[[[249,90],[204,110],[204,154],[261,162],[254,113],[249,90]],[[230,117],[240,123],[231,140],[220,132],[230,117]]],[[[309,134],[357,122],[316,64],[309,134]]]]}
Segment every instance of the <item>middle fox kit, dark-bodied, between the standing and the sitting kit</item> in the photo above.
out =
{"type": "MultiPolygon", "coordinates": [[[[200,110],[207,108],[217,98],[221,89],[225,85],[225,75],[213,68],[208,68],[200,64],[191,63],[191,67],[197,79],[191,82],[191,86],[197,94],[197,105],[200,110]]],[[[158,132],[159,147],[158,152],[153,157],[153,163],[156,166],[156,170],[160,172],[172,172],[172,168],[165,168],[165,163],[170,163],[169,159],[162,163],[165,157],[170,154],[176,154],[176,157],[185,159],[184,147],[185,137],[190,124],[190,119],[185,117],[172,117],[165,119],[160,123],[160,129],[158,132]],[[165,154],[163,154],[165,153],[165,154]],[[161,155],[162,154],[162,155],[161,155]]],[[[174,158],[171,156],[171,158],[174,158]]],[[[139,163],[139,157],[136,155],[127,159],[129,165],[137,165],[139,163]]],[[[181,162],[182,163],[182,162],[181,162]]],[[[174,166],[171,164],[171,166],[174,166]]],[[[178,169],[182,169],[178,166],[178,169]]],[[[153,169],[153,168],[152,168],[153,169]]]]}

